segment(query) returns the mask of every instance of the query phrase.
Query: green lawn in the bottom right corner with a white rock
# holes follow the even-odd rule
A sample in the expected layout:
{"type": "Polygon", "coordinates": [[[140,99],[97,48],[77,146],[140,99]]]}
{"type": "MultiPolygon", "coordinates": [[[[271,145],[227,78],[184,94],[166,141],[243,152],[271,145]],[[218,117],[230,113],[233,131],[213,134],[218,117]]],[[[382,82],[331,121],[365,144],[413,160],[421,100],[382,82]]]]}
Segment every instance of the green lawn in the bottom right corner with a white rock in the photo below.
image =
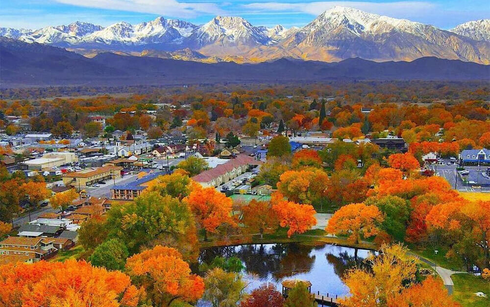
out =
{"type": "Polygon", "coordinates": [[[454,288],[453,299],[463,307],[489,307],[490,306],[490,283],[483,278],[471,274],[454,274],[451,276],[454,288]],[[486,298],[478,297],[474,293],[483,292],[486,298]]]}

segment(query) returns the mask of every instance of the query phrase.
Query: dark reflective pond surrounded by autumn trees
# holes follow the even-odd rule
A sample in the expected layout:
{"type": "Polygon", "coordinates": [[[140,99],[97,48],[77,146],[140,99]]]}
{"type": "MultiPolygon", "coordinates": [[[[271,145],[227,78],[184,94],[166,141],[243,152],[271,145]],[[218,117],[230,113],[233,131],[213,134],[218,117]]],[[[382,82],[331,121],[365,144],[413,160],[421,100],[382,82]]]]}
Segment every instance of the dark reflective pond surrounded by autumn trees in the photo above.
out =
{"type": "Polygon", "coordinates": [[[285,279],[309,280],[312,292],[347,295],[349,289],[341,280],[343,273],[363,262],[371,251],[326,243],[315,246],[301,243],[247,244],[202,249],[200,263],[211,263],[217,257],[238,257],[245,266],[247,292],[263,283],[273,283],[281,291],[285,279]]]}

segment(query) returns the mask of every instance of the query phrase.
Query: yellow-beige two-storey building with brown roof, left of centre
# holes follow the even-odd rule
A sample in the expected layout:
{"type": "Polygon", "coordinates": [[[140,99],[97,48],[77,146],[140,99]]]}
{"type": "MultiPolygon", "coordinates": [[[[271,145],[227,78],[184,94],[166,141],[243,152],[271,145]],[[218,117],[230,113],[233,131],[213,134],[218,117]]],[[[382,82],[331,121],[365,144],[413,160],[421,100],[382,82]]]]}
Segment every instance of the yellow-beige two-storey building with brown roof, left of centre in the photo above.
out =
{"type": "Polygon", "coordinates": [[[63,183],[65,185],[71,185],[80,191],[85,189],[87,186],[100,181],[120,178],[122,169],[123,168],[119,166],[88,168],[79,172],[63,175],[63,183]]]}

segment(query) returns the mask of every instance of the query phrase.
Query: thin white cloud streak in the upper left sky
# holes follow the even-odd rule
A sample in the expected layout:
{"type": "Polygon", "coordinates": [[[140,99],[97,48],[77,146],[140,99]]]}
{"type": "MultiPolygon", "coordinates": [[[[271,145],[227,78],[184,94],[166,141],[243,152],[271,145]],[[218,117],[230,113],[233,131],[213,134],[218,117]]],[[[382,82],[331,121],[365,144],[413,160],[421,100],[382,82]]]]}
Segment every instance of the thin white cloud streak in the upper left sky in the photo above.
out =
{"type": "Polygon", "coordinates": [[[176,0],[55,0],[56,2],[138,13],[151,13],[179,18],[193,18],[202,14],[223,14],[223,10],[210,2],[178,2],[176,0]]]}

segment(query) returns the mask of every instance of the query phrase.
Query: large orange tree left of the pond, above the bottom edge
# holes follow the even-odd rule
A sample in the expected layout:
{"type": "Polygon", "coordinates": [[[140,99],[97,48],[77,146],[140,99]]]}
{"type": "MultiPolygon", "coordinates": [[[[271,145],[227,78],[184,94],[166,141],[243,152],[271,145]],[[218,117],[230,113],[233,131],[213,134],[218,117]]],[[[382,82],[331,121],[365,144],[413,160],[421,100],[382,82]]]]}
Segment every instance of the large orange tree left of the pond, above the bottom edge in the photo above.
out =
{"type": "Polygon", "coordinates": [[[170,306],[174,300],[196,302],[204,293],[201,277],[174,248],[157,245],[127,259],[126,272],[143,287],[153,306],[170,306]]]}

